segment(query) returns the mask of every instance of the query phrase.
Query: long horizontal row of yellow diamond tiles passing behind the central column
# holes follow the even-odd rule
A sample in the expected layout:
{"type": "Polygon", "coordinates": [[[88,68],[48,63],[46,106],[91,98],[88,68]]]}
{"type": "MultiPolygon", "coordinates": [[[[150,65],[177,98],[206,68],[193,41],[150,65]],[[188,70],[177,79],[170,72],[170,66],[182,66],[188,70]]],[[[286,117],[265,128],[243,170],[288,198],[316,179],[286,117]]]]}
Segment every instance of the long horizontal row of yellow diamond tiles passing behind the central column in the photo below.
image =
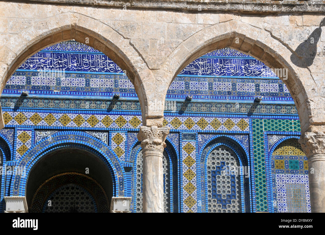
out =
{"type": "MultiPolygon", "coordinates": [[[[142,121],[137,116],[115,116],[115,115],[101,115],[95,114],[90,117],[87,114],[78,114],[74,116],[70,113],[65,114],[41,114],[37,112],[5,112],[3,114],[5,124],[15,120],[19,125],[23,125],[26,120],[30,120],[35,126],[45,125],[48,126],[67,126],[71,122],[77,127],[82,127],[85,122],[91,127],[100,125],[109,128],[115,123],[119,128],[139,128],[142,121]],[[29,118],[28,118],[29,117],[29,118]],[[44,117],[44,118],[43,118],[44,117]],[[44,122],[43,122],[44,120],[44,122]],[[56,122],[59,120],[59,122],[56,122]],[[129,120],[129,121],[127,121],[129,120]]],[[[214,117],[166,117],[163,118],[162,125],[169,126],[172,129],[178,129],[184,124],[185,130],[236,130],[244,131],[249,127],[248,120],[244,118],[224,118],[214,117]],[[186,128],[185,128],[186,127],[186,128]],[[235,128],[235,129],[234,129],[235,128]]],[[[14,123],[13,123],[14,124],[14,123]]],[[[26,125],[26,124],[25,124],[26,125]]],[[[30,125],[30,122],[29,122],[30,125]]]]}

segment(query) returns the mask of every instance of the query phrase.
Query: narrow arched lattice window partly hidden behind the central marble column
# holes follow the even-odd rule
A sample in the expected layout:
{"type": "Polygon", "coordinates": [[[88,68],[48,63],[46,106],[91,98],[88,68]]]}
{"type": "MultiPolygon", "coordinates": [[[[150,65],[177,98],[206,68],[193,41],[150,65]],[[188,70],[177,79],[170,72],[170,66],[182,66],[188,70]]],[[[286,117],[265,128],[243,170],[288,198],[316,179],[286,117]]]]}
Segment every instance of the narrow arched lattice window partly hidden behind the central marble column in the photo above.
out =
{"type": "MultiPolygon", "coordinates": [[[[164,212],[170,212],[170,169],[166,151],[163,151],[162,167],[164,212]]],[[[136,159],[136,212],[142,212],[142,151],[136,159]]]]}

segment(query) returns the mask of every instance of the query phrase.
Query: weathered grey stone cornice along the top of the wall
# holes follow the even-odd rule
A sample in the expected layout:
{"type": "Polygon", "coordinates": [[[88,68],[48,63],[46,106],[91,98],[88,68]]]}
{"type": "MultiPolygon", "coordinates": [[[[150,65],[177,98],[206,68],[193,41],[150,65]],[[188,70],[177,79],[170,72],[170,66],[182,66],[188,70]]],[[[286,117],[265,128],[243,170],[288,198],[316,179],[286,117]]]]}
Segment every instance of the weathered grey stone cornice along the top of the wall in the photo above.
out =
{"type": "MultiPolygon", "coordinates": [[[[45,2],[45,0],[26,0],[26,2],[45,2]]],[[[233,10],[246,12],[324,12],[324,3],[321,1],[265,1],[254,0],[219,0],[208,1],[209,4],[204,4],[205,1],[184,1],[184,0],[161,0],[161,1],[138,1],[138,0],[47,0],[47,4],[64,3],[68,5],[95,5],[95,6],[110,6],[124,7],[132,6],[135,8],[159,8],[159,9],[183,9],[183,10],[233,10]]]]}

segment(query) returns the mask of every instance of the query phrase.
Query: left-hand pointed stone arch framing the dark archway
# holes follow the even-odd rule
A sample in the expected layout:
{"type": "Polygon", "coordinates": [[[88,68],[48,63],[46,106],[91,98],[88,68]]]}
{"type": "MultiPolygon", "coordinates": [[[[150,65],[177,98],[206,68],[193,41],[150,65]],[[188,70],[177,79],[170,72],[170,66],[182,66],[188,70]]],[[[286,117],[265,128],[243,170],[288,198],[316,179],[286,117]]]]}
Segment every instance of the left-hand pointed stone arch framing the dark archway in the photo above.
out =
{"type": "Polygon", "coordinates": [[[126,71],[144,113],[146,92],[140,72],[143,73],[147,65],[130,44],[130,39],[101,21],[75,12],[35,21],[32,26],[8,36],[0,48],[0,92],[10,76],[30,56],[50,45],[72,39],[103,52],[126,71]]]}

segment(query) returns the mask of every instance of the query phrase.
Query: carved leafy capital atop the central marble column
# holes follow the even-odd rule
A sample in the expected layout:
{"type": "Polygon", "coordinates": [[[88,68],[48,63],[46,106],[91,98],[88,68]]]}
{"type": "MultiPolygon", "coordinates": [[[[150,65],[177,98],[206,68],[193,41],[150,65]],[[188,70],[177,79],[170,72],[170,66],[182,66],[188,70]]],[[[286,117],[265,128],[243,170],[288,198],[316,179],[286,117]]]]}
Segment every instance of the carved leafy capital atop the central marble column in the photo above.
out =
{"type": "Polygon", "coordinates": [[[141,126],[137,137],[141,141],[142,151],[163,152],[163,149],[166,147],[165,140],[168,133],[169,127],[141,126]]]}

